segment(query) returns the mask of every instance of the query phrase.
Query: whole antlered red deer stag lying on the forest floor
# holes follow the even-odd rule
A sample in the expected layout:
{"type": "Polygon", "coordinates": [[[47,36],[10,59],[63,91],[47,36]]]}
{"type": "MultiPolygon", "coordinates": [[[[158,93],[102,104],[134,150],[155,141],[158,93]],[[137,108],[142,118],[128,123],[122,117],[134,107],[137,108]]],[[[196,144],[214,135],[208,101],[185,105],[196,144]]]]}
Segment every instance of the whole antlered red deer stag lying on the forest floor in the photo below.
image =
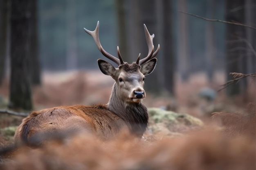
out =
{"type": "Polygon", "coordinates": [[[97,60],[101,72],[115,80],[108,104],[61,106],[33,111],[18,126],[14,135],[16,144],[25,142],[38,145],[47,135],[56,136],[70,131],[90,133],[101,139],[109,139],[124,128],[136,137],[141,137],[146,131],[148,111],[142,104],[146,97],[143,89],[144,77],[154,70],[157,63],[154,57],[160,48],[158,45],[154,52],[154,34],[150,35],[144,24],[148,55],[144,59],[138,57],[136,62],[128,64],[123,61],[118,47],[119,59],[102,48],[99,41],[99,21],[94,31],[84,30],[93,37],[101,53],[119,65],[115,68],[107,61],[97,60]]]}

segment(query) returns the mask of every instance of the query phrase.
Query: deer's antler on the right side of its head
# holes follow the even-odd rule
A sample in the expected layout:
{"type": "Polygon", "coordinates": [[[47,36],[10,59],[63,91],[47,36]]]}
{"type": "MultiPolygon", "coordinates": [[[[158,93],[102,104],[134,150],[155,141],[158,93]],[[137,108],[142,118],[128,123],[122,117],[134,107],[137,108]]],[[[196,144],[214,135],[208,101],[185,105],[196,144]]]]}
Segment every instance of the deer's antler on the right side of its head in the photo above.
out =
{"type": "Polygon", "coordinates": [[[154,52],[154,44],[153,44],[153,38],[155,37],[154,34],[150,35],[150,33],[148,32],[148,28],[147,26],[144,24],[144,30],[145,30],[145,35],[146,35],[146,41],[148,44],[148,56],[145,57],[144,59],[139,59],[139,57],[136,61],[137,64],[142,65],[144,63],[146,63],[148,60],[152,59],[153,57],[155,57],[160,49],[160,44],[158,44],[157,46],[157,50],[155,50],[154,52]]]}

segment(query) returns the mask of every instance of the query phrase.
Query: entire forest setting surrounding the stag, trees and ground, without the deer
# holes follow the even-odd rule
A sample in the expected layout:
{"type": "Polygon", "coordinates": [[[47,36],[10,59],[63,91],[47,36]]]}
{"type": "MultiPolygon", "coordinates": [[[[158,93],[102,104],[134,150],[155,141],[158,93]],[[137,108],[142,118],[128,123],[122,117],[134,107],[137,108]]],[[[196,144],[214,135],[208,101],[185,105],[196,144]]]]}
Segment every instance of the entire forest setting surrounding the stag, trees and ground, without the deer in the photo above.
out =
{"type": "Polygon", "coordinates": [[[0,169],[255,170],[255,18],[255,0],[0,0],[0,169]],[[31,110],[108,102],[107,59],[83,30],[98,20],[103,48],[129,63],[148,53],[144,23],[160,44],[144,137],[83,134],[3,157],[31,110]]]}

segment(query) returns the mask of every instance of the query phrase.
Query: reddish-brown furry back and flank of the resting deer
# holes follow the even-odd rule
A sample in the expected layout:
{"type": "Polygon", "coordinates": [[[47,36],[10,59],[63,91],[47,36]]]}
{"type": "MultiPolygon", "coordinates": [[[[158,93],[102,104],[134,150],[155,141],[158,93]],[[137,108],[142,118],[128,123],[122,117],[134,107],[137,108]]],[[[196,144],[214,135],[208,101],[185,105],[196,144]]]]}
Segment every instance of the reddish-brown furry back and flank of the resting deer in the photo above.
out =
{"type": "Polygon", "coordinates": [[[77,132],[108,139],[126,127],[126,123],[106,105],[54,107],[33,111],[23,119],[14,140],[16,143],[37,143],[47,137],[77,132]]]}

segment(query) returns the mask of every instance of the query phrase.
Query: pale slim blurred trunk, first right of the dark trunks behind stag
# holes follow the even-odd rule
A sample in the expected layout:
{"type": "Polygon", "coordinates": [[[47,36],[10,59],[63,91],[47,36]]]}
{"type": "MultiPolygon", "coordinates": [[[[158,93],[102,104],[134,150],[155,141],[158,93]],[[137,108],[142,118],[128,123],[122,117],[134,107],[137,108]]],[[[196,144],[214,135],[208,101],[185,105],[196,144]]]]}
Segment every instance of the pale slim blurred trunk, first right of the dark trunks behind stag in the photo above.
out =
{"type": "MultiPolygon", "coordinates": [[[[178,0],[178,9],[180,11],[187,11],[186,0],[178,0]]],[[[189,25],[188,15],[178,13],[178,61],[179,70],[182,81],[187,81],[189,78],[189,25]]]]}

